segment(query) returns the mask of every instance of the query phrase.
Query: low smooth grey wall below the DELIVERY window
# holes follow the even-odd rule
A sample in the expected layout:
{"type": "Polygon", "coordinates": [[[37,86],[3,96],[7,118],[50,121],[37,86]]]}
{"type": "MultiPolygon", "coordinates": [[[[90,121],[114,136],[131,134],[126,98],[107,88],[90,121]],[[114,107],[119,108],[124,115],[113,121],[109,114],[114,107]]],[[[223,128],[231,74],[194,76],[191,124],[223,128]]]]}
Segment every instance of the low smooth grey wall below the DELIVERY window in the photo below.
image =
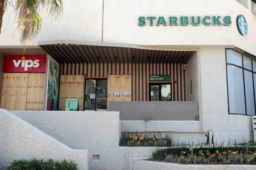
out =
{"type": "Polygon", "coordinates": [[[120,120],[195,120],[199,116],[198,101],[109,101],[110,111],[120,111],[120,120]]]}

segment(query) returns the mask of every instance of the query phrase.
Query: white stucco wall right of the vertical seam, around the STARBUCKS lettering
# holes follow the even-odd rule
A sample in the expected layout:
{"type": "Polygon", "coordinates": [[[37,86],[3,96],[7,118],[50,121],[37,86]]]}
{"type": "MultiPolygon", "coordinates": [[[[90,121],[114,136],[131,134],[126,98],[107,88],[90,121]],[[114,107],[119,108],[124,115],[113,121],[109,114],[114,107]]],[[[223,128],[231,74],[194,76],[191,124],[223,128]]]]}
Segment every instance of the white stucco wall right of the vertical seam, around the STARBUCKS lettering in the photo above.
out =
{"type": "Polygon", "coordinates": [[[256,49],[248,43],[256,38],[256,15],[235,0],[202,1],[107,1],[104,3],[104,42],[150,45],[235,45],[249,53],[256,49]],[[116,8],[115,8],[116,7],[116,8]],[[123,9],[122,7],[125,7],[123,9]],[[112,10],[115,9],[115,10],[112,10]],[[248,23],[248,34],[241,36],[236,17],[243,14],[248,23]],[[138,26],[139,16],[213,16],[230,15],[232,24],[205,26],[138,26]],[[113,34],[113,30],[115,33],[113,34]],[[247,43],[245,43],[247,42],[247,43]]]}

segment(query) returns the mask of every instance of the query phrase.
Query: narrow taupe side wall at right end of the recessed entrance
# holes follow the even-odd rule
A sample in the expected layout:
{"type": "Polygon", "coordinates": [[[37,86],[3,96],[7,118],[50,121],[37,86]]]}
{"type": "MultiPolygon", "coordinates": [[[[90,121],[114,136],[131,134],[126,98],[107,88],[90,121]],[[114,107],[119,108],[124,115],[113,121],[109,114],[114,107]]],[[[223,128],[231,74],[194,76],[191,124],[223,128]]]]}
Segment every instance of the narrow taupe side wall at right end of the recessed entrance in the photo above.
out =
{"type": "Polygon", "coordinates": [[[187,62],[187,100],[199,101],[199,68],[198,53],[196,52],[187,62]],[[190,92],[190,81],[192,80],[192,94],[190,92]]]}

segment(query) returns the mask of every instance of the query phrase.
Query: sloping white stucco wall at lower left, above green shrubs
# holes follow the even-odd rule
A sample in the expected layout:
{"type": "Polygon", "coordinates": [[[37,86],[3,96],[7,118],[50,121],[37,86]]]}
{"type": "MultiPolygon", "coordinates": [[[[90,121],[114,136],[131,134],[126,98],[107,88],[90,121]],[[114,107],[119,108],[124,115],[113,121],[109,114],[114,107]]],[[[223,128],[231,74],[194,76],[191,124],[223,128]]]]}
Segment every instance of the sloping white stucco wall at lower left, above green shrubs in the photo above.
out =
{"type": "Polygon", "coordinates": [[[13,160],[73,160],[88,169],[88,150],[72,149],[11,112],[0,109],[0,169],[13,160]]]}

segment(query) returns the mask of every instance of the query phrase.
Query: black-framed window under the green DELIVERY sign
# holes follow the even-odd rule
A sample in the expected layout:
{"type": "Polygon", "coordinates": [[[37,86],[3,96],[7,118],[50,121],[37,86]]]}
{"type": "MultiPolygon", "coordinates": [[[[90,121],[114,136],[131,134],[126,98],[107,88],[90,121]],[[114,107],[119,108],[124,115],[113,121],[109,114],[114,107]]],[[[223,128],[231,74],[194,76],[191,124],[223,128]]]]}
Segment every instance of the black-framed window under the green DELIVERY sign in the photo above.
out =
{"type": "Polygon", "coordinates": [[[149,83],[149,101],[173,101],[172,82],[149,83]]]}

